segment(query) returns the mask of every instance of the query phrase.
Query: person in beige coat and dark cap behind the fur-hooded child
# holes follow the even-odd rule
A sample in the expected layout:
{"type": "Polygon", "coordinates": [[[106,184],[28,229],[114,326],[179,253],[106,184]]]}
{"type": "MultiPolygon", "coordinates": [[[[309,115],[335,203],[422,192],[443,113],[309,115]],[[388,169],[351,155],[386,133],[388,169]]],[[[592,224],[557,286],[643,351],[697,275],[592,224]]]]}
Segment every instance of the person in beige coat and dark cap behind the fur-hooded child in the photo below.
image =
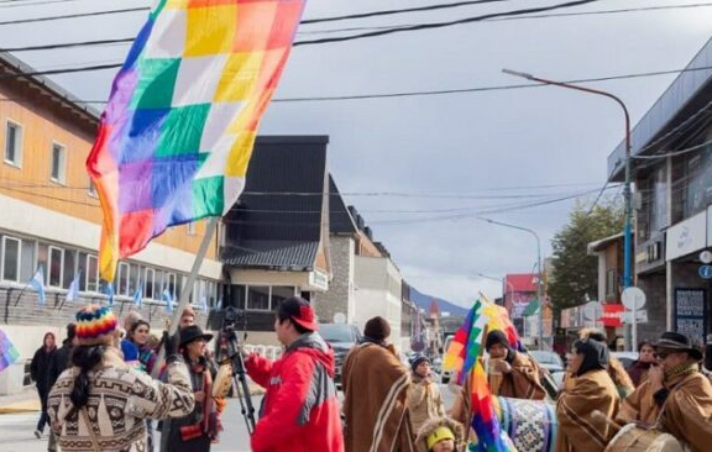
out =
{"type": "Polygon", "coordinates": [[[445,406],[438,385],[433,382],[430,360],[424,356],[415,357],[411,362],[412,384],[408,395],[410,424],[414,432],[431,419],[445,416],[445,406]]]}

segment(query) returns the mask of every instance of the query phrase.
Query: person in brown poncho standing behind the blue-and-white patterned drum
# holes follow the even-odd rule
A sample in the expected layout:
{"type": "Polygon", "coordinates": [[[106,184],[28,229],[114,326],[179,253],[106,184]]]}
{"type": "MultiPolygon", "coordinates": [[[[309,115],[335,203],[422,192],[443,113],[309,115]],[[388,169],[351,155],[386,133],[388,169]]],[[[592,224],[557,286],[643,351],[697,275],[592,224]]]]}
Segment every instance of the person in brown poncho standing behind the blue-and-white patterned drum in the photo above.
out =
{"type": "MultiPolygon", "coordinates": [[[[506,335],[494,330],[488,333],[485,349],[490,355],[489,387],[493,396],[511,399],[543,400],[546,391],[540,382],[539,367],[527,355],[517,352],[509,345],[506,335]]],[[[465,381],[450,416],[461,424],[469,426],[471,414],[471,377],[465,381]]]]}

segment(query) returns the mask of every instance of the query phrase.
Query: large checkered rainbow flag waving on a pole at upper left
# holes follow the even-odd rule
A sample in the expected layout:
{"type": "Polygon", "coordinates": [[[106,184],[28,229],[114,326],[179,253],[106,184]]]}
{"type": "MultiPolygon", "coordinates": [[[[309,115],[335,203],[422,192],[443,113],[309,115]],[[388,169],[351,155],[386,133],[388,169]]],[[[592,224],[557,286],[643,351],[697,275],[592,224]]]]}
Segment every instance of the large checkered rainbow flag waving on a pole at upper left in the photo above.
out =
{"type": "Polygon", "coordinates": [[[154,0],[87,159],[103,280],[169,226],[234,204],[305,1],[154,0]]]}

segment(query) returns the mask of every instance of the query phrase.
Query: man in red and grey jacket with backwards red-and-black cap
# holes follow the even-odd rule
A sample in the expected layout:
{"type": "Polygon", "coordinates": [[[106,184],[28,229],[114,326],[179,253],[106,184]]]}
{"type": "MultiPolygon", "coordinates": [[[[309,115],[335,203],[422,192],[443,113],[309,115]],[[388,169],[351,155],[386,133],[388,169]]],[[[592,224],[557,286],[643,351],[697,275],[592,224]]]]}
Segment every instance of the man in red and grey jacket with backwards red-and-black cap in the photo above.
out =
{"type": "Polygon", "coordinates": [[[313,308],[286,300],[274,322],[286,346],[276,362],[251,354],[249,376],[267,389],[261,419],[251,438],[254,452],[343,452],[333,349],[316,332],[313,308]]]}

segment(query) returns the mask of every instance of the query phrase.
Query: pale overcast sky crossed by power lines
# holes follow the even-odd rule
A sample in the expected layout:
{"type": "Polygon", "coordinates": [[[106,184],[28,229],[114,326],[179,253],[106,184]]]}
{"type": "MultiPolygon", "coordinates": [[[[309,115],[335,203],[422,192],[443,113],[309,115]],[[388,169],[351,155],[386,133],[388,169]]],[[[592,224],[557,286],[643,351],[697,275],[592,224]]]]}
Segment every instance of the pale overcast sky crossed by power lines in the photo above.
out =
{"type": "MultiPolygon", "coordinates": [[[[32,1],[39,0],[24,3],[32,1]]],[[[324,36],[305,34],[311,31],[447,21],[562,1],[511,0],[303,26],[298,39],[324,36]]],[[[310,0],[305,18],[437,3],[310,0]]],[[[566,12],[693,3],[700,2],[602,0],[566,12]]],[[[23,7],[0,4],[0,21],[148,4],[148,0],[75,0],[23,7]]],[[[712,35],[711,19],[712,7],[704,7],[491,21],[303,46],[293,51],[276,98],[522,82],[502,74],[502,68],[560,80],[679,69],[712,35]]],[[[125,38],[134,36],[144,20],[145,13],[131,13],[0,26],[0,47],[125,38]]],[[[127,48],[105,46],[17,56],[38,69],[47,69],[120,62],[127,48]]],[[[108,96],[112,77],[113,71],[103,71],[58,75],[55,80],[80,99],[102,100],[108,96]]],[[[673,79],[668,75],[591,86],[623,98],[637,122],[673,79]]],[[[421,291],[466,305],[478,290],[491,297],[501,294],[500,283],[477,278],[477,273],[496,277],[528,273],[536,258],[531,236],[483,223],[473,213],[600,189],[607,175],[606,159],[623,137],[623,118],[610,100],[561,88],[535,88],[439,97],[273,103],[261,133],[329,135],[329,167],[340,190],[352,193],[347,202],[362,212],[404,277],[421,291]],[[550,185],[557,186],[513,189],[550,185]],[[375,191],[470,197],[357,196],[375,191]],[[461,213],[471,215],[456,221],[433,221],[434,217],[461,213]]],[[[588,195],[589,201],[594,197],[588,195]]],[[[573,202],[492,214],[491,218],[533,228],[542,238],[545,253],[550,253],[550,239],[567,221],[573,202]]]]}

